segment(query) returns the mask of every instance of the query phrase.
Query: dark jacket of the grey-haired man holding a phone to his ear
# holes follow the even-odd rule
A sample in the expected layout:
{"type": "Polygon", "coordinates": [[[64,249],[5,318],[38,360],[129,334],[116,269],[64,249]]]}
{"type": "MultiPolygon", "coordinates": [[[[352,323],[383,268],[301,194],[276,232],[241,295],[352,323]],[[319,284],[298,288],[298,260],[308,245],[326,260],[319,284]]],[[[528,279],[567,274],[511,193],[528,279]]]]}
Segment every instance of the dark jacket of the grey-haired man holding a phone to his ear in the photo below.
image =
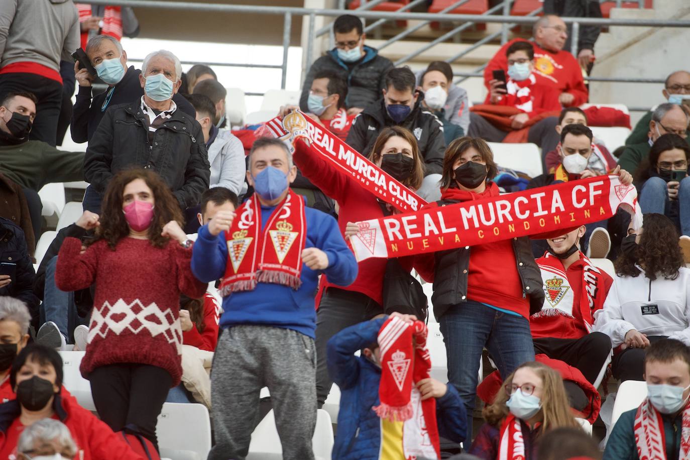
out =
{"type": "MultiPolygon", "coordinates": [[[[141,70],[135,69],[134,66],[130,66],[125,76],[115,85],[115,90],[113,90],[110,101],[108,101],[105,108],[103,108],[103,102],[106,101],[106,95],[110,88],[100,94],[96,94],[93,100],[91,100],[92,87],[79,86],[77,101],[75,101],[75,107],[72,110],[72,123],[70,123],[72,141],[77,143],[91,141],[93,134],[96,132],[96,128],[98,128],[108,108],[119,104],[139,101],[141,96],[144,96],[144,88],[141,88],[141,83],[139,83],[139,74],[141,74],[141,70]]],[[[193,119],[197,117],[196,110],[194,110],[194,107],[187,99],[184,99],[182,94],[175,94],[172,100],[175,101],[179,110],[191,115],[193,119]]]]}

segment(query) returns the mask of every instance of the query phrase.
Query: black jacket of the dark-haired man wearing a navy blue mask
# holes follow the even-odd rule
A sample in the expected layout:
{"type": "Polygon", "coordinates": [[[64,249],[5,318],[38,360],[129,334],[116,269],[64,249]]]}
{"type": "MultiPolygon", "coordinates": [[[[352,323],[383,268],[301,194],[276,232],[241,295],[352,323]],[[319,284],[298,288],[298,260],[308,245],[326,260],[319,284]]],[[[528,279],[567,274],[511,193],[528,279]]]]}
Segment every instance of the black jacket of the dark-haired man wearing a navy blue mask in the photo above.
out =
{"type": "Polygon", "coordinates": [[[357,152],[368,157],[379,133],[386,126],[402,126],[417,138],[417,146],[424,159],[424,175],[441,174],[446,140],[443,137],[443,123],[435,114],[422,107],[424,94],[420,92],[412,112],[398,125],[388,115],[384,99],[367,106],[352,122],[346,143],[357,152]]]}

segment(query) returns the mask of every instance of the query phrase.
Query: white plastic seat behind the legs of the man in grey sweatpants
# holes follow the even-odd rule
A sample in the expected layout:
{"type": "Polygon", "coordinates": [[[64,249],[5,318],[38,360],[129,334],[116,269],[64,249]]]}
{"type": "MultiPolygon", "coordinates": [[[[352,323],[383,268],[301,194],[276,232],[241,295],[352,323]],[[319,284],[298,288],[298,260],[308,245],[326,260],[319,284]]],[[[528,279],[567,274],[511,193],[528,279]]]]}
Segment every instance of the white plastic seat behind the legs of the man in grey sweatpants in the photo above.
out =
{"type": "MultiPolygon", "coordinates": [[[[323,409],[317,410],[316,428],[312,437],[312,448],[317,460],[328,460],[333,450],[333,427],[331,416],[323,409]]],[[[275,428],[273,409],[259,422],[252,433],[247,460],[282,459],[283,448],[275,428]]]]}

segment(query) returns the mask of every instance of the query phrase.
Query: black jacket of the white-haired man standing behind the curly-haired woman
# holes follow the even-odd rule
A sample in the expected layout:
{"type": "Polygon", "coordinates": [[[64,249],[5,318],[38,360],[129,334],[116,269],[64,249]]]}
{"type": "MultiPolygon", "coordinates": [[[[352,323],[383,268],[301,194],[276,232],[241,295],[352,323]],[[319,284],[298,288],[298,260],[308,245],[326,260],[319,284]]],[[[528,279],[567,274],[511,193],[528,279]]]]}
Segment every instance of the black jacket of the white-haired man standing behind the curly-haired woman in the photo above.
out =
{"type": "Polygon", "coordinates": [[[86,149],[84,177],[103,194],[116,172],[132,166],[161,174],[183,210],[196,206],[210,178],[201,125],[175,110],[153,134],[150,146],[141,101],[109,108],[86,149]]]}

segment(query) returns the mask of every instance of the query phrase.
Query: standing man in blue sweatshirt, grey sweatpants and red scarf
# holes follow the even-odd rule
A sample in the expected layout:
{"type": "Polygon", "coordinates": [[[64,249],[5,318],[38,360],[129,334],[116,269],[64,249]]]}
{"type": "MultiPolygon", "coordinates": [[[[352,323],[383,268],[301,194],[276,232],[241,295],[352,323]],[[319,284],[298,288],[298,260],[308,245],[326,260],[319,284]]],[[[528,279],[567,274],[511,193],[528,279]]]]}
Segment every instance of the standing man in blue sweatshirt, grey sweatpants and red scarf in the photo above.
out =
{"type": "Polygon", "coordinates": [[[247,181],[255,193],[237,212],[199,229],[192,271],[222,278],[223,329],[211,374],[211,460],[244,459],[268,387],[284,459],[313,459],[316,425],[315,306],[319,274],[348,286],[357,262],[333,217],[307,208],[288,186],[297,168],[277,139],[257,140],[247,181]]]}

